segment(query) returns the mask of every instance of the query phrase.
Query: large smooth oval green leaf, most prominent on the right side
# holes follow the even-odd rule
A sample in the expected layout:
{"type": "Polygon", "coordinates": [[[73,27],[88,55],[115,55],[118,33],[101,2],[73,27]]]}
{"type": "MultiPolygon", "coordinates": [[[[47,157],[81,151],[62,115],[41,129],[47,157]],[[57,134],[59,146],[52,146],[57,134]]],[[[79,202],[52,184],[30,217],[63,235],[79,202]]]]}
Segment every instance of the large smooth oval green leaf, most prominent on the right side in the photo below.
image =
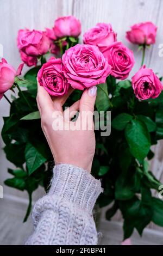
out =
{"type": "Polygon", "coordinates": [[[131,120],[125,129],[125,136],[128,142],[131,154],[142,161],[147,156],[151,147],[150,135],[147,126],[139,120],[131,120]]]}

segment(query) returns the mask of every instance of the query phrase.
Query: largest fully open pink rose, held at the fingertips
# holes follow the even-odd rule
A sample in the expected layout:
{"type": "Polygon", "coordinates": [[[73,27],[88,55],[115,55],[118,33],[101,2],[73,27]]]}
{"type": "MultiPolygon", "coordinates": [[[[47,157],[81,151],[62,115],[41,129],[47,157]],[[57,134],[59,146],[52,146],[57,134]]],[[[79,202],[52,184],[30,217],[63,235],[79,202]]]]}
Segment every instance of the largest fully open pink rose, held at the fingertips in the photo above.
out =
{"type": "Polygon", "coordinates": [[[74,89],[84,90],[104,83],[110,65],[95,45],[76,45],[62,56],[64,75],[74,89]]]}

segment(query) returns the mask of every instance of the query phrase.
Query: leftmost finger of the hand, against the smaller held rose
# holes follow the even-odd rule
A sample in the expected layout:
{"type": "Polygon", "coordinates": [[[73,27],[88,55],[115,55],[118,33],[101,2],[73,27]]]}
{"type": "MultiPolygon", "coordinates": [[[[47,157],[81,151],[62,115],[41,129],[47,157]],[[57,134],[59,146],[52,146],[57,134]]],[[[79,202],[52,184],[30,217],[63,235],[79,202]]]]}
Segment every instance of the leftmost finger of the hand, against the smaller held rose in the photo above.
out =
{"type": "Polygon", "coordinates": [[[40,86],[39,82],[37,81],[37,106],[39,108],[40,114],[43,113],[52,113],[54,111],[53,101],[51,96],[48,92],[40,86]]]}

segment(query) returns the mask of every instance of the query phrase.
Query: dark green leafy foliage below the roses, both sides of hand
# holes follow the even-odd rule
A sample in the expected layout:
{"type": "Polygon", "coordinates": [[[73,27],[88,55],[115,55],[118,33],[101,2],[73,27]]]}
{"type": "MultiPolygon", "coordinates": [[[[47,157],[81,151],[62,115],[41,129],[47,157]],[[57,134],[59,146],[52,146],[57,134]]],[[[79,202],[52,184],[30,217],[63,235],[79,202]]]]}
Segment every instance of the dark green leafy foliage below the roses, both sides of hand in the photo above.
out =
{"type": "MultiPolygon", "coordinates": [[[[73,42],[68,39],[69,44],[73,42]]],[[[16,81],[26,87],[23,94],[13,97],[10,115],[4,118],[2,138],[7,159],[16,169],[8,169],[13,176],[5,184],[29,194],[30,213],[32,193],[39,185],[47,190],[52,176],[53,157],[41,130],[40,115],[36,105],[36,76],[40,66],[30,69],[24,80],[16,81]]],[[[74,91],[66,102],[72,105],[80,98],[81,91],[74,91]]],[[[96,153],[92,174],[102,180],[104,192],[97,203],[109,205],[106,218],[110,220],[119,209],[124,218],[124,238],[134,228],[142,234],[153,221],[163,226],[163,202],[152,197],[151,189],[158,190],[160,182],[148,170],[147,159],[154,154],[151,145],[163,139],[163,93],[157,99],[137,100],[129,80],[117,82],[109,76],[97,90],[96,109],[111,111],[111,135],[101,137],[96,133],[96,153]]]]}

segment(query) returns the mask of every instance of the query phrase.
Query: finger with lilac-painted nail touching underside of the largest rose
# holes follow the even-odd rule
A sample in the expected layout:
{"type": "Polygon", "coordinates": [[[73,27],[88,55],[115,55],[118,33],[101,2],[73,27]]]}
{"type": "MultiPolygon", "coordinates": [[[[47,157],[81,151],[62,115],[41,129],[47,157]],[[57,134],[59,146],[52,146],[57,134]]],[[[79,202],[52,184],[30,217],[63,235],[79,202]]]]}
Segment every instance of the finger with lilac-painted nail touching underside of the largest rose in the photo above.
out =
{"type": "Polygon", "coordinates": [[[95,101],[96,101],[97,87],[93,86],[89,89],[84,90],[82,97],[80,99],[80,112],[81,111],[94,111],[95,101]]]}

